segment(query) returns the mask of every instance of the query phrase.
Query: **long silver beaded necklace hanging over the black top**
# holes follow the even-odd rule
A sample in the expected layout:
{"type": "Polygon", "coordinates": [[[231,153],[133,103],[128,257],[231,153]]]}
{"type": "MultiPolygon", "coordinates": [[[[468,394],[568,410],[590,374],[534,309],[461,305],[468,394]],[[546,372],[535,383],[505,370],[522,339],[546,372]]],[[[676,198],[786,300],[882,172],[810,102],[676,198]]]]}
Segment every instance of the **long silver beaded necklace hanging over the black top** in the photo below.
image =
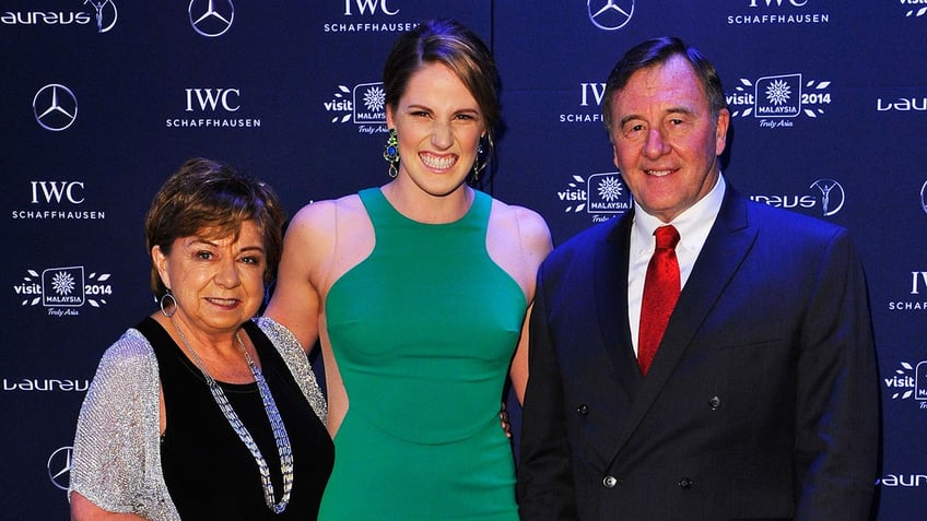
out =
{"type": "Polygon", "coordinates": [[[238,415],[235,413],[235,410],[232,408],[232,404],[228,403],[225,392],[222,391],[222,388],[219,387],[215,379],[213,379],[209,371],[206,370],[202,359],[200,359],[200,356],[193,350],[192,345],[190,345],[190,342],[187,340],[187,335],[184,334],[184,331],[180,330],[173,318],[171,319],[171,323],[174,324],[174,328],[177,330],[177,334],[180,336],[180,340],[184,342],[187,351],[189,351],[190,355],[192,355],[193,362],[200,369],[200,372],[202,372],[203,378],[206,378],[206,382],[209,386],[212,398],[215,400],[219,408],[222,410],[222,414],[225,415],[225,419],[228,421],[228,425],[232,426],[232,429],[235,430],[238,438],[242,439],[242,442],[245,443],[245,447],[247,447],[251,452],[251,455],[255,457],[255,462],[257,462],[258,471],[261,475],[261,483],[263,484],[263,499],[265,502],[267,502],[267,507],[273,513],[283,512],[283,510],[286,509],[286,505],[290,502],[290,493],[293,489],[293,450],[290,447],[290,437],[286,435],[286,427],[283,425],[283,419],[280,417],[280,412],[277,410],[277,403],[273,401],[270,388],[267,387],[263,374],[261,374],[261,370],[258,369],[255,360],[251,359],[251,355],[249,355],[248,350],[245,348],[245,343],[242,342],[242,338],[236,332],[235,340],[238,341],[238,348],[245,354],[245,360],[248,363],[248,367],[251,369],[251,375],[255,377],[255,382],[258,384],[261,402],[263,402],[263,410],[267,413],[267,419],[270,421],[270,427],[273,430],[273,440],[277,442],[277,452],[280,454],[280,473],[283,475],[283,497],[280,498],[280,502],[275,502],[273,500],[273,483],[270,481],[270,471],[268,470],[267,461],[265,461],[260,449],[257,443],[255,443],[255,439],[251,437],[251,434],[248,433],[245,424],[242,423],[238,415]]]}

